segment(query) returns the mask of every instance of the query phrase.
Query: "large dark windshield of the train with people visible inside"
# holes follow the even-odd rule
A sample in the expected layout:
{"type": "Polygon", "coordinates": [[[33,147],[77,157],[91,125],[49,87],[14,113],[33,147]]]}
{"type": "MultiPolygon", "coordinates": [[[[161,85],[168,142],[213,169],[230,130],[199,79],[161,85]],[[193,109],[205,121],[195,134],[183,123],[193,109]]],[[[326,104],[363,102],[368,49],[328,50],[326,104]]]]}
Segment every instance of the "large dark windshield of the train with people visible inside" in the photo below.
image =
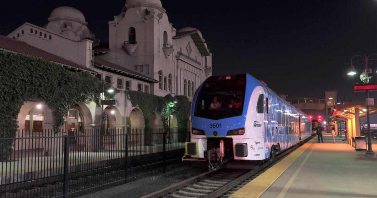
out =
{"type": "Polygon", "coordinates": [[[212,79],[201,87],[194,115],[212,120],[242,115],[246,79],[212,79]]]}

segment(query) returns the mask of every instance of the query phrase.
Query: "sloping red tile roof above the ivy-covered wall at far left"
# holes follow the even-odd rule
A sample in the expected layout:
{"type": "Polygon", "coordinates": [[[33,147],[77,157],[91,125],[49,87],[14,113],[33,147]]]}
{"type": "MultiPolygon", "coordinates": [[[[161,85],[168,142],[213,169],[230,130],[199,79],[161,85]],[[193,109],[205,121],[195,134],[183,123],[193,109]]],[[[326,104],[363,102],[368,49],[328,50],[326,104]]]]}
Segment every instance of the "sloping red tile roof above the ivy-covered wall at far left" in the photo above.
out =
{"type": "Polygon", "coordinates": [[[97,73],[92,69],[86,68],[81,64],[74,63],[67,59],[58,57],[57,55],[51,54],[50,52],[43,51],[39,48],[29,45],[24,41],[15,40],[0,35],[0,50],[4,49],[11,52],[17,52],[21,54],[31,55],[34,57],[40,57],[58,64],[63,64],[64,66],[69,66],[78,70],[89,71],[92,73],[97,73]]]}

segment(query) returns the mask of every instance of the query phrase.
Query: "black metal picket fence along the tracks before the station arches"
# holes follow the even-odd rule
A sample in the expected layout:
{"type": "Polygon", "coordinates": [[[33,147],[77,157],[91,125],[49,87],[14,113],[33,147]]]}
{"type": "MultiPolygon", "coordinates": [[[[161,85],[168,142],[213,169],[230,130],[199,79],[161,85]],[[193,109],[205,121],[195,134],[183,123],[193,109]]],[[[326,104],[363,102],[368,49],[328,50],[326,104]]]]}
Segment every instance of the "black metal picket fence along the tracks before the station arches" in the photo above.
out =
{"type": "Polygon", "coordinates": [[[0,131],[0,197],[70,197],[182,164],[187,129],[0,131]],[[127,171],[126,171],[127,170],[127,171]]]}

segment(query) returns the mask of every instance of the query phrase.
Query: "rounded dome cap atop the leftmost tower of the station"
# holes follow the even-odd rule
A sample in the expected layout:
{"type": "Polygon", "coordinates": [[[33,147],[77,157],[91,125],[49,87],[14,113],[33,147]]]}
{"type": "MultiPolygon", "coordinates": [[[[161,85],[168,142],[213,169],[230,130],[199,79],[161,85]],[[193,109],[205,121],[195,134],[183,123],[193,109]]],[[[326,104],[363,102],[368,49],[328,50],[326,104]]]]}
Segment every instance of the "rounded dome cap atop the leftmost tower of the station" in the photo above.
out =
{"type": "Polygon", "coordinates": [[[85,17],[81,11],[69,6],[62,6],[55,8],[49,17],[49,20],[54,18],[75,19],[85,23],[85,17]]]}

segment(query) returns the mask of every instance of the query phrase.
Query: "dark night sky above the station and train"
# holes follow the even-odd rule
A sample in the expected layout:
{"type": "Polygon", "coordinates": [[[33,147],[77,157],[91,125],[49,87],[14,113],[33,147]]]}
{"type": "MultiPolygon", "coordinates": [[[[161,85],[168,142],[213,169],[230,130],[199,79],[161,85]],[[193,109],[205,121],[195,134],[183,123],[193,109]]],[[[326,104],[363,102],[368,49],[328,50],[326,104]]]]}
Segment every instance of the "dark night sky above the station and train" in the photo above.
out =
{"type": "MultiPolygon", "coordinates": [[[[107,41],[108,21],[124,2],[5,1],[0,34],[8,35],[25,22],[46,25],[54,8],[72,6],[83,12],[89,29],[107,41]]],[[[364,98],[352,92],[352,84],[360,80],[346,75],[344,63],[352,55],[377,53],[376,2],[162,0],[162,6],[176,29],[193,26],[202,32],[213,53],[214,75],[249,73],[290,98],[323,97],[325,90],[339,90],[341,100],[345,95],[347,101],[356,101],[364,98]]],[[[375,66],[371,64],[374,71],[375,66]]]]}

